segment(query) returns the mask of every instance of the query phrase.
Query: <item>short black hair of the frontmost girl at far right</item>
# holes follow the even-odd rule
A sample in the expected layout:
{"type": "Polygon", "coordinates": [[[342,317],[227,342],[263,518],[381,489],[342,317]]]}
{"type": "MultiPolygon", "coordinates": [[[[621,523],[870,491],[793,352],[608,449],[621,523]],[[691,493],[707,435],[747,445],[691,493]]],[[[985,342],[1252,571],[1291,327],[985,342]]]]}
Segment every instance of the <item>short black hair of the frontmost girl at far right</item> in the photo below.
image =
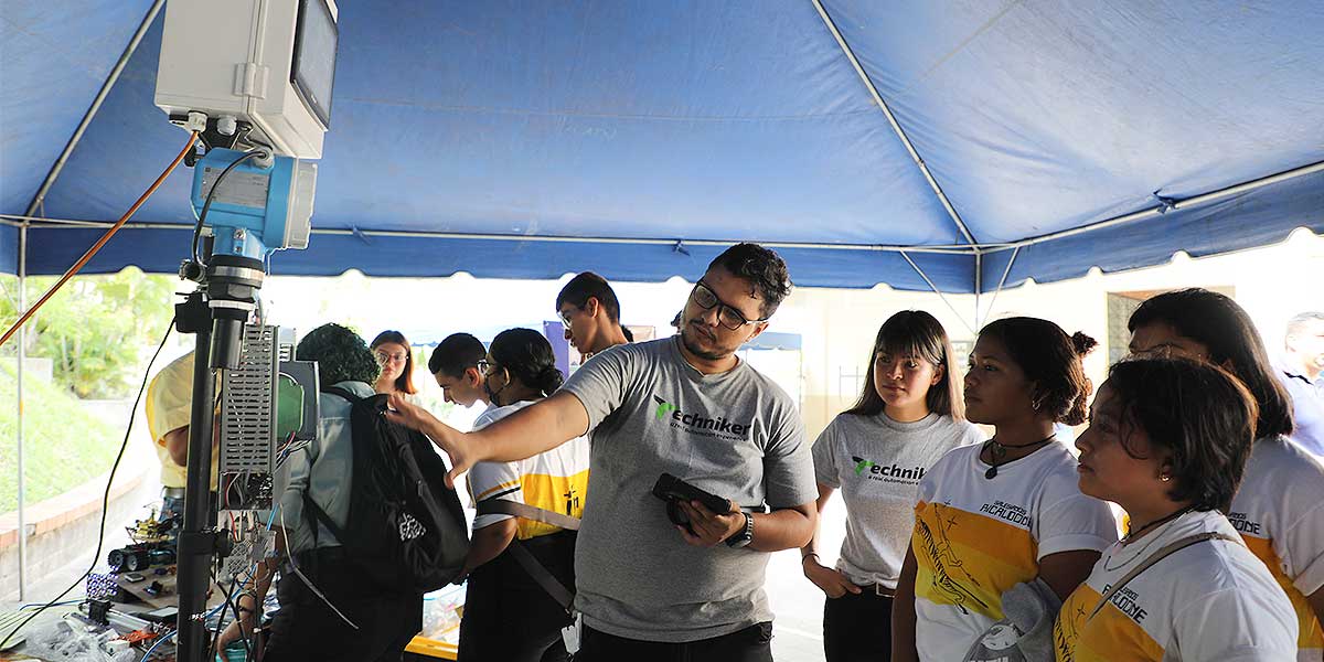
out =
{"type": "Polygon", "coordinates": [[[1186,357],[1141,357],[1115,364],[1104,387],[1117,400],[1121,449],[1133,458],[1131,430],[1172,453],[1168,496],[1196,510],[1227,512],[1255,442],[1258,412],[1250,391],[1218,365],[1186,357]]]}

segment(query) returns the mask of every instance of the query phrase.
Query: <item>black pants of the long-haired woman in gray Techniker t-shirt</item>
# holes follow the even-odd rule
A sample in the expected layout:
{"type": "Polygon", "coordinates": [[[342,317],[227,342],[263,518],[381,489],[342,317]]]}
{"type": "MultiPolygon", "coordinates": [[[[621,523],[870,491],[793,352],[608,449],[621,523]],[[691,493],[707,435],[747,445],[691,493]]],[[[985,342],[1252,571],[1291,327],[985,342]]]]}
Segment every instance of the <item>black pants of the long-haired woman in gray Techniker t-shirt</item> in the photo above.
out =
{"type": "Polygon", "coordinates": [[[887,662],[892,658],[892,598],[866,589],[824,602],[828,662],[887,662]]]}

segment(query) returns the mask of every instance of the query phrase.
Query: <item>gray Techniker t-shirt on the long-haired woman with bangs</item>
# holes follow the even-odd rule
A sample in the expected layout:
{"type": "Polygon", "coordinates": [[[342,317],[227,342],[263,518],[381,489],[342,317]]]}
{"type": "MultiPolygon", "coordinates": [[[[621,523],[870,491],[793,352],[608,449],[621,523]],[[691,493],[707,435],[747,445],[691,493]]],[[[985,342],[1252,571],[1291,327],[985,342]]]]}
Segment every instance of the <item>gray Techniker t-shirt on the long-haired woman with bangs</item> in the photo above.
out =
{"type": "Polygon", "coordinates": [[[846,540],[837,569],[861,585],[896,588],[915,528],[919,481],[948,450],[984,441],[974,424],[931,413],[898,422],[886,413],[838,414],[814,441],[814,477],[841,490],[846,540]]]}

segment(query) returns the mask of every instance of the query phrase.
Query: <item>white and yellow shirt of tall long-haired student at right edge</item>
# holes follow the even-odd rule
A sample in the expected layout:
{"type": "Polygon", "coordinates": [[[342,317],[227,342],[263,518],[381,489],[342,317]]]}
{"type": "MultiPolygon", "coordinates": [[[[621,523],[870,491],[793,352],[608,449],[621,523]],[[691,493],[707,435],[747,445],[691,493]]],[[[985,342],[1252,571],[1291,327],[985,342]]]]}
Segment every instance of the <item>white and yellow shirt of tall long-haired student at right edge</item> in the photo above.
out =
{"type": "Polygon", "coordinates": [[[1255,441],[1227,512],[1296,612],[1296,659],[1319,662],[1324,632],[1305,596],[1324,587],[1324,465],[1283,437],[1255,441]]]}

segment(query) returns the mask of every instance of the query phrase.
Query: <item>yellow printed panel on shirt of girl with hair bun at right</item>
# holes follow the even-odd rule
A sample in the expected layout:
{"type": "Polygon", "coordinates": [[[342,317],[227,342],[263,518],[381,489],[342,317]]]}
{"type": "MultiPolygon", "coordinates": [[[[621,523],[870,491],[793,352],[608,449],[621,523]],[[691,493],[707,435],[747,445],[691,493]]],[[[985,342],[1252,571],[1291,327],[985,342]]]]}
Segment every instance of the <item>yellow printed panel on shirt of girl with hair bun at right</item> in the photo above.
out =
{"type": "Polygon", "coordinates": [[[915,507],[915,596],[963,613],[1002,618],[1002,592],[1038,575],[1038,544],[1025,508],[986,503],[982,514],[943,503],[915,507]]]}

